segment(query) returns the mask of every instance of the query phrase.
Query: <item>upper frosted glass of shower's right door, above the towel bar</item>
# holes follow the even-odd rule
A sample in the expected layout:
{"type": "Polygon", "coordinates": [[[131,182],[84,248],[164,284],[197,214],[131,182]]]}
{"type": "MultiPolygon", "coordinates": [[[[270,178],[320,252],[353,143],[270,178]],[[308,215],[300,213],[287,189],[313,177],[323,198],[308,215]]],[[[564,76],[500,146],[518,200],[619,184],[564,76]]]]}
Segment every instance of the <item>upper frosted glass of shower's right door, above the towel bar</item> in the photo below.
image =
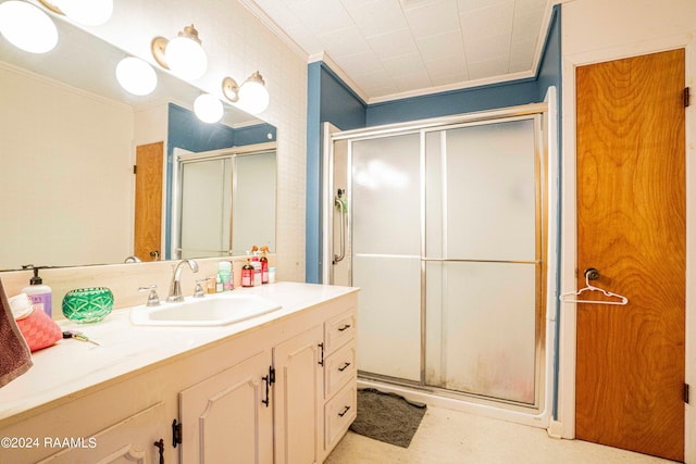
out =
{"type": "Polygon", "coordinates": [[[446,140],[446,258],[534,260],[534,122],[450,129],[446,140]]]}

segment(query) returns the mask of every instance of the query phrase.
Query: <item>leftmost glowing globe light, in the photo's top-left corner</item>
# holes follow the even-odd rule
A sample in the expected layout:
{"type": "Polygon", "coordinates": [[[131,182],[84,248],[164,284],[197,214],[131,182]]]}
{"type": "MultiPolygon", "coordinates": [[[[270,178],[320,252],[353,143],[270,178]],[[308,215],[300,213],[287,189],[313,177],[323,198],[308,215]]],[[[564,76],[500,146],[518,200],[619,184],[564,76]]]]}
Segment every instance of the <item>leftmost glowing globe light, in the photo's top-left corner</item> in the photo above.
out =
{"type": "Polygon", "coordinates": [[[48,14],[18,0],[0,3],[0,35],[29,53],[46,53],[58,43],[58,29],[48,14]]]}

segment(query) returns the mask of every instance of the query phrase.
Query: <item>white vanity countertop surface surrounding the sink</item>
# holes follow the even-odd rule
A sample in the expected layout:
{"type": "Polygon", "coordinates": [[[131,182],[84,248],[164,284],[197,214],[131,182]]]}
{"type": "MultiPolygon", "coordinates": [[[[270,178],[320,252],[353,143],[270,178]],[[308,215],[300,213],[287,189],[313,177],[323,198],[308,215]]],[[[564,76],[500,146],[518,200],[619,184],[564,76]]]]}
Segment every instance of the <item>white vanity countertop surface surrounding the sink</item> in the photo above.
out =
{"type": "MultiPolygon", "coordinates": [[[[130,310],[116,310],[96,324],[62,321],[63,330],[77,330],[99,342],[61,340],[32,354],[34,366],[0,388],[0,423],[63,397],[116,379],[190,350],[284,318],[324,301],[357,291],[351,287],[277,283],[235,289],[254,293],[283,308],[247,321],[219,327],[134,326],[130,310]]],[[[144,296],[145,298],[145,296],[144,296]]],[[[163,303],[166,304],[166,303],[163,303]]]]}

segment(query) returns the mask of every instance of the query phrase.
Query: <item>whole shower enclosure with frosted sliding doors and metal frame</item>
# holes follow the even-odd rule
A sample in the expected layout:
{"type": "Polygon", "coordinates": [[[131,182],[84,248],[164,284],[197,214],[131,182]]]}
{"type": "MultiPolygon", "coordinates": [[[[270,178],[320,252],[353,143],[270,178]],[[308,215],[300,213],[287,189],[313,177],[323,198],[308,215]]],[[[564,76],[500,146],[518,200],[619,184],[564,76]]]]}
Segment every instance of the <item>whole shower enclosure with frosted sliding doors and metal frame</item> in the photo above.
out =
{"type": "Polygon", "coordinates": [[[361,288],[362,378],[539,409],[546,108],[325,129],[324,281],[361,288]]]}

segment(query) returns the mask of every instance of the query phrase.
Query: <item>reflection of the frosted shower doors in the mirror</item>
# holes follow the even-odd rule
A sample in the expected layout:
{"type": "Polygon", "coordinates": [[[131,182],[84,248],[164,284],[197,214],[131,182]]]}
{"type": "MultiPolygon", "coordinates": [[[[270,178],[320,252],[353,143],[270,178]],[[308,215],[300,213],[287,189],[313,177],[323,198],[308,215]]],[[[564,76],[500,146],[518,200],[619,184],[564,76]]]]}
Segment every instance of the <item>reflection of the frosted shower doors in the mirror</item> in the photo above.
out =
{"type": "Polygon", "coordinates": [[[174,259],[275,250],[275,142],[175,155],[174,259]]]}

